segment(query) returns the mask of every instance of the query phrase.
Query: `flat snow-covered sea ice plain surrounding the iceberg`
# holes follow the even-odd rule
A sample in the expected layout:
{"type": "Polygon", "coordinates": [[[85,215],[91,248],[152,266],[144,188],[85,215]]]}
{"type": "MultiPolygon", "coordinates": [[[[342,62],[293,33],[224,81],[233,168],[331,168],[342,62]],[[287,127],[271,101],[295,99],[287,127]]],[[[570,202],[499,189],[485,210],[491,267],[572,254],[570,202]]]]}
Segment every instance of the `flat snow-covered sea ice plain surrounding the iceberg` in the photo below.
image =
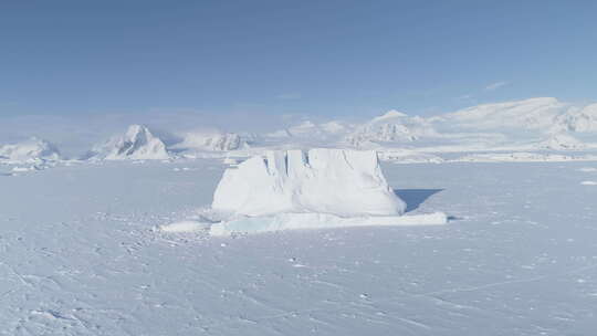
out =
{"type": "Polygon", "coordinates": [[[208,206],[223,168],[0,171],[0,335],[597,329],[597,187],[582,185],[597,162],[383,165],[407,214],[446,211],[446,225],[156,229],[208,206]]]}

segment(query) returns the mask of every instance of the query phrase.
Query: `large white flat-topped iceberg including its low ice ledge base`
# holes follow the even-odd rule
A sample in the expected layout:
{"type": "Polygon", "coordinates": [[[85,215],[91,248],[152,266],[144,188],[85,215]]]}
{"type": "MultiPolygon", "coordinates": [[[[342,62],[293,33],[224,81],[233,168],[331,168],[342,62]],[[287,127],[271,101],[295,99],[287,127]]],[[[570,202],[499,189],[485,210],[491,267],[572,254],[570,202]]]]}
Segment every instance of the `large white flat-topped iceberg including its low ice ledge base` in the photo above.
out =
{"type": "Polygon", "coordinates": [[[373,150],[268,151],[228,168],[211,209],[164,232],[211,235],[294,229],[444,224],[443,212],[402,216],[373,150]]]}

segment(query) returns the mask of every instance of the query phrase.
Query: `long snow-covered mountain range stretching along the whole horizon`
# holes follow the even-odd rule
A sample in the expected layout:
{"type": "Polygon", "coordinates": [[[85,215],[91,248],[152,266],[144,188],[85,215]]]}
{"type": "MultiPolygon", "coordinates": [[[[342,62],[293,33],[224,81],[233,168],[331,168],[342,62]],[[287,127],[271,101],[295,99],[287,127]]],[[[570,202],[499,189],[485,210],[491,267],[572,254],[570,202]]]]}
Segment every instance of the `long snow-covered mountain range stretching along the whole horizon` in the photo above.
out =
{"type": "MultiPolygon", "coordinates": [[[[165,138],[132,125],[94,146],[84,159],[172,159],[248,156],[269,148],[338,147],[423,154],[597,149],[597,104],[578,106],[542,97],[483,104],[432,117],[389,111],[364,123],[304,120],[263,134],[196,130],[165,138]]],[[[399,155],[398,155],[399,156],[399,155]]],[[[0,161],[59,160],[49,141],[0,145],[0,161]]]]}

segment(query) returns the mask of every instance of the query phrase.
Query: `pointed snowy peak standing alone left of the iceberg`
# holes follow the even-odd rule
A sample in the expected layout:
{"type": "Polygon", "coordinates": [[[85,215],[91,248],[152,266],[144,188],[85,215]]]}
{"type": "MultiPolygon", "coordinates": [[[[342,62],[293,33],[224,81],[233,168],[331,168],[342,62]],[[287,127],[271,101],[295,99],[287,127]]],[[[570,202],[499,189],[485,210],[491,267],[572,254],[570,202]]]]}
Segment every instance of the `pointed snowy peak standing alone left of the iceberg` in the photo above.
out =
{"type": "Polygon", "coordinates": [[[168,159],[164,141],[142,125],[130,125],[123,136],[116,136],[92,149],[91,157],[106,160],[168,159]]]}

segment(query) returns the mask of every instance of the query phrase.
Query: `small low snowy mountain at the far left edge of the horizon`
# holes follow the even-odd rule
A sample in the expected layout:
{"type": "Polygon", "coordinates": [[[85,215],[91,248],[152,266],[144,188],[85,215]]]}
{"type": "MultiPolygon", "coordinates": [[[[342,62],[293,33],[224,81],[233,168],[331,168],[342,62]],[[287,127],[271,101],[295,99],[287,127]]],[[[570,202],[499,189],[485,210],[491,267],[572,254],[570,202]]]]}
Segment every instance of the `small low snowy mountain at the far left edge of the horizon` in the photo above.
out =
{"type": "Polygon", "coordinates": [[[54,145],[35,137],[17,144],[0,145],[0,161],[4,162],[36,164],[60,158],[60,151],[54,145]]]}

